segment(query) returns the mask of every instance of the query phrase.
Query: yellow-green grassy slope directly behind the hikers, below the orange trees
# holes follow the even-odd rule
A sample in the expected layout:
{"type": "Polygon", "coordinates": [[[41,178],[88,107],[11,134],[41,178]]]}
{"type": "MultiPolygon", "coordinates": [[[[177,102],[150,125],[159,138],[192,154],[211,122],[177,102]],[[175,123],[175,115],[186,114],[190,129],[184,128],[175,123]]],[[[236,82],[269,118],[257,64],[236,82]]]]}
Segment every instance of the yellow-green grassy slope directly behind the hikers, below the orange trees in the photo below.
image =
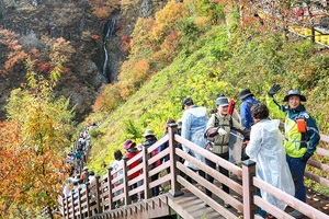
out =
{"type": "MultiPolygon", "coordinates": [[[[88,164],[89,169],[95,170],[98,174],[104,174],[105,166],[113,160],[113,151],[121,149],[126,138],[132,138],[137,143],[141,142],[140,135],[147,127],[152,128],[160,137],[168,117],[174,119],[181,117],[181,100],[184,96],[192,96],[197,105],[212,108],[214,97],[219,92],[224,91],[226,95],[237,100],[240,89],[249,87],[256,96],[263,101],[270,84],[279,82],[283,85],[283,91],[277,96],[281,100],[293,83],[298,83],[302,88],[304,85],[300,81],[293,81],[297,80],[296,73],[292,70],[295,66],[303,66],[307,61],[314,62],[317,60],[316,56],[326,56],[326,53],[308,55],[306,51],[292,53],[286,56],[276,54],[273,57],[282,59],[282,62],[277,65],[286,71],[273,73],[271,69],[274,64],[271,61],[274,58],[270,59],[268,55],[274,53],[271,47],[275,46],[275,43],[271,37],[262,38],[270,42],[264,45],[257,42],[259,39],[241,45],[242,50],[246,50],[241,51],[238,50],[239,46],[228,46],[229,42],[225,33],[223,27],[214,26],[195,44],[184,47],[169,67],[155,74],[113,113],[90,115],[89,120],[102,120],[102,125],[98,129],[98,137],[92,138],[93,149],[88,164]],[[293,57],[290,58],[291,56],[293,57]],[[133,122],[133,126],[127,125],[127,120],[133,122]]],[[[300,46],[304,46],[305,50],[313,47],[307,42],[293,42],[285,47],[277,48],[275,53],[286,54],[300,46]]],[[[303,90],[308,92],[309,96],[306,107],[314,113],[322,111],[328,104],[328,89],[325,85],[328,79],[327,73],[317,80],[318,87],[314,91],[318,94],[303,90]],[[322,100],[324,104],[320,108],[315,108],[311,103],[318,99],[322,100]]],[[[319,123],[322,130],[328,128],[326,122],[319,120],[319,123]]]]}

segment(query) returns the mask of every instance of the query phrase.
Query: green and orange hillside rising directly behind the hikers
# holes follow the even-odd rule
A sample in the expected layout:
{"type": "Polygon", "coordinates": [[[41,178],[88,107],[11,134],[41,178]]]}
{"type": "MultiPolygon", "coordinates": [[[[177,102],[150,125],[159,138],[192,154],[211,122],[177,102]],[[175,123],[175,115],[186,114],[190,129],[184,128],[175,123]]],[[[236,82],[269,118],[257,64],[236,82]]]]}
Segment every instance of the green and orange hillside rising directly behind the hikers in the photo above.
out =
{"type": "Polygon", "coordinates": [[[116,104],[111,96],[115,87],[107,85],[101,92],[103,108],[87,119],[102,122],[92,132],[88,164],[91,170],[103,174],[114,150],[121,149],[127,138],[143,142],[146,128],[152,128],[160,137],[168,118],[181,117],[181,101],[185,96],[209,112],[215,96],[223,92],[237,101],[239,110],[241,89],[249,88],[263,102],[268,89],[279,83],[283,88],[276,95],[279,102],[291,88],[299,89],[308,97],[305,105],[320,131],[329,132],[328,50],[273,28],[271,23],[265,25],[248,9],[243,25],[237,14],[230,16],[220,3],[192,0],[169,1],[155,18],[138,20],[129,60],[146,59],[149,69],[161,61],[167,65],[118,107],[106,106],[116,104]],[[158,59],[159,54],[162,59],[158,59]]]}

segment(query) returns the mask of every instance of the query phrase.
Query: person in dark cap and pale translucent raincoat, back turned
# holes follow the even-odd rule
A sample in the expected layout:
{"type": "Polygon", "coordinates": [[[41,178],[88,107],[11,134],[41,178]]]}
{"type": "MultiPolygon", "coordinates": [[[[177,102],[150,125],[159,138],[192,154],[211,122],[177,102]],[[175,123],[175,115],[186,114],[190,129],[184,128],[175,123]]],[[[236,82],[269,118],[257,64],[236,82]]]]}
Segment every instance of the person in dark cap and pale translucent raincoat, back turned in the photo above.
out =
{"type": "MultiPolygon", "coordinates": [[[[208,122],[206,108],[194,105],[192,99],[185,97],[182,101],[182,110],[184,110],[182,116],[182,138],[192,141],[201,148],[205,148],[206,140],[204,138],[204,131],[208,122]]],[[[184,145],[182,148],[185,153],[205,163],[205,158],[202,154],[191,150],[184,145]]],[[[198,171],[198,174],[205,177],[205,173],[188,160],[184,161],[184,165],[194,172],[198,171]]],[[[185,175],[185,178],[189,183],[192,183],[192,178],[189,175],[185,175]]]]}

